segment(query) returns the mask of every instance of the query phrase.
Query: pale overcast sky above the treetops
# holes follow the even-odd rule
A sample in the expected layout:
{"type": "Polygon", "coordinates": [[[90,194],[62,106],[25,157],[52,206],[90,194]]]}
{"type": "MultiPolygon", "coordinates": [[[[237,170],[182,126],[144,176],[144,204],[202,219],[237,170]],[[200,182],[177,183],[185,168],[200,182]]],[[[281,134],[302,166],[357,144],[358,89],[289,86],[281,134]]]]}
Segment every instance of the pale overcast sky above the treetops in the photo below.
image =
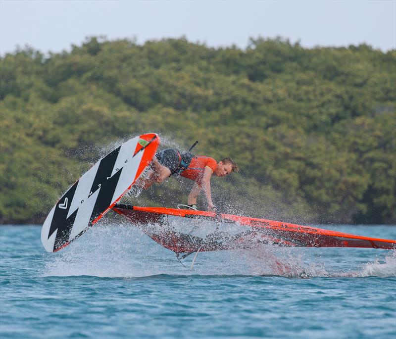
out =
{"type": "Polygon", "coordinates": [[[396,0],[0,0],[0,53],[70,50],[87,36],[180,38],[246,48],[281,36],[304,47],[396,49],[396,0]]]}

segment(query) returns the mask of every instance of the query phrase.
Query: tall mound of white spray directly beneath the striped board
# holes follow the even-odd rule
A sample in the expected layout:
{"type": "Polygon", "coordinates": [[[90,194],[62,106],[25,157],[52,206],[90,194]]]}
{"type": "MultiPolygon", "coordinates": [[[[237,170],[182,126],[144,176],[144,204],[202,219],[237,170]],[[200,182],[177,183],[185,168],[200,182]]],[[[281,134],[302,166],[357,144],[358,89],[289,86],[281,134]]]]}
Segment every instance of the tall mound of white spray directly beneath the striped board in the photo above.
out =
{"type": "Polygon", "coordinates": [[[164,273],[157,269],[159,263],[144,237],[130,226],[99,222],[84,237],[54,253],[43,275],[124,278],[164,273]]]}

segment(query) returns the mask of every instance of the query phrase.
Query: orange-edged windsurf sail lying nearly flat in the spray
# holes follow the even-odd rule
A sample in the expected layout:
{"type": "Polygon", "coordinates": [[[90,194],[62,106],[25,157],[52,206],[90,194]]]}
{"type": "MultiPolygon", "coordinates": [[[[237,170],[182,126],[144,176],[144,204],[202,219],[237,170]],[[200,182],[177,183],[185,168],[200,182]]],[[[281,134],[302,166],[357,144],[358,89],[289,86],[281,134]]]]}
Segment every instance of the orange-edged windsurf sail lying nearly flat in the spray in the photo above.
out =
{"type": "Polygon", "coordinates": [[[176,253],[251,248],[258,243],[304,247],[396,248],[395,240],[356,236],[316,227],[233,214],[165,207],[138,207],[125,204],[118,204],[113,207],[113,210],[136,224],[151,239],[176,253]],[[169,224],[169,218],[206,220],[209,221],[209,225],[212,224],[212,227],[209,226],[209,230],[204,236],[198,236],[194,232],[186,233],[178,230],[175,224],[169,224]],[[219,230],[219,224],[230,223],[238,225],[240,232],[227,234],[227,225],[219,230]],[[158,227],[148,228],[145,226],[148,224],[155,224],[158,227]]]}

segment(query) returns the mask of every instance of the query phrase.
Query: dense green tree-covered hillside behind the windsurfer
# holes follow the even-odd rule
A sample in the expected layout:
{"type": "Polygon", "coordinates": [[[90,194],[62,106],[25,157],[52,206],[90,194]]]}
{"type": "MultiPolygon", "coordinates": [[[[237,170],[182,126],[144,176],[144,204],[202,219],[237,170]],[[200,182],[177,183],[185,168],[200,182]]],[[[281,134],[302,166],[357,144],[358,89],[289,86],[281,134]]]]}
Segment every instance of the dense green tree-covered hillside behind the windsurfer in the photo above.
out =
{"type": "MultiPolygon", "coordinates": [[[[212,180],[220,209],[396,222],[395,50],[91,38],[48,57],[17,50],[0,67],[2,222],[42,221],[104,149],[141,132],[234,158],[240,174],[212,180]]],[[[177,180],[140,203],[185,202],[191,184],[177,180]]]]}

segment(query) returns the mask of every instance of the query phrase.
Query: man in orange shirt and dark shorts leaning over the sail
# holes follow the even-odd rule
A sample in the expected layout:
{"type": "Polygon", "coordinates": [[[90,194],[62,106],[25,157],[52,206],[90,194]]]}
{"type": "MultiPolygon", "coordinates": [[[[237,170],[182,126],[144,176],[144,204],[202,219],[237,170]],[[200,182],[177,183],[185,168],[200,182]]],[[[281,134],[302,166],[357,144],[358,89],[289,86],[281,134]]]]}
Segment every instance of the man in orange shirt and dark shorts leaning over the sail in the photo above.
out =
{"type": "Polygon", "coordinates": [[[143,189],[148,189],[154,182],[162,183],[172,175],[181,175],[195,181],[188,197],[188,205],[197,208],[197,198],[203,190],[207,199],[208,211],[215,210],[210,191],[212,175],[224,177],[239,170],[238,165],[229,157],[217,162],[209,156],[180,152],[175,148],[167,148],[157,152],[151,164],[152,171],[145,179],[143,189]]]}

